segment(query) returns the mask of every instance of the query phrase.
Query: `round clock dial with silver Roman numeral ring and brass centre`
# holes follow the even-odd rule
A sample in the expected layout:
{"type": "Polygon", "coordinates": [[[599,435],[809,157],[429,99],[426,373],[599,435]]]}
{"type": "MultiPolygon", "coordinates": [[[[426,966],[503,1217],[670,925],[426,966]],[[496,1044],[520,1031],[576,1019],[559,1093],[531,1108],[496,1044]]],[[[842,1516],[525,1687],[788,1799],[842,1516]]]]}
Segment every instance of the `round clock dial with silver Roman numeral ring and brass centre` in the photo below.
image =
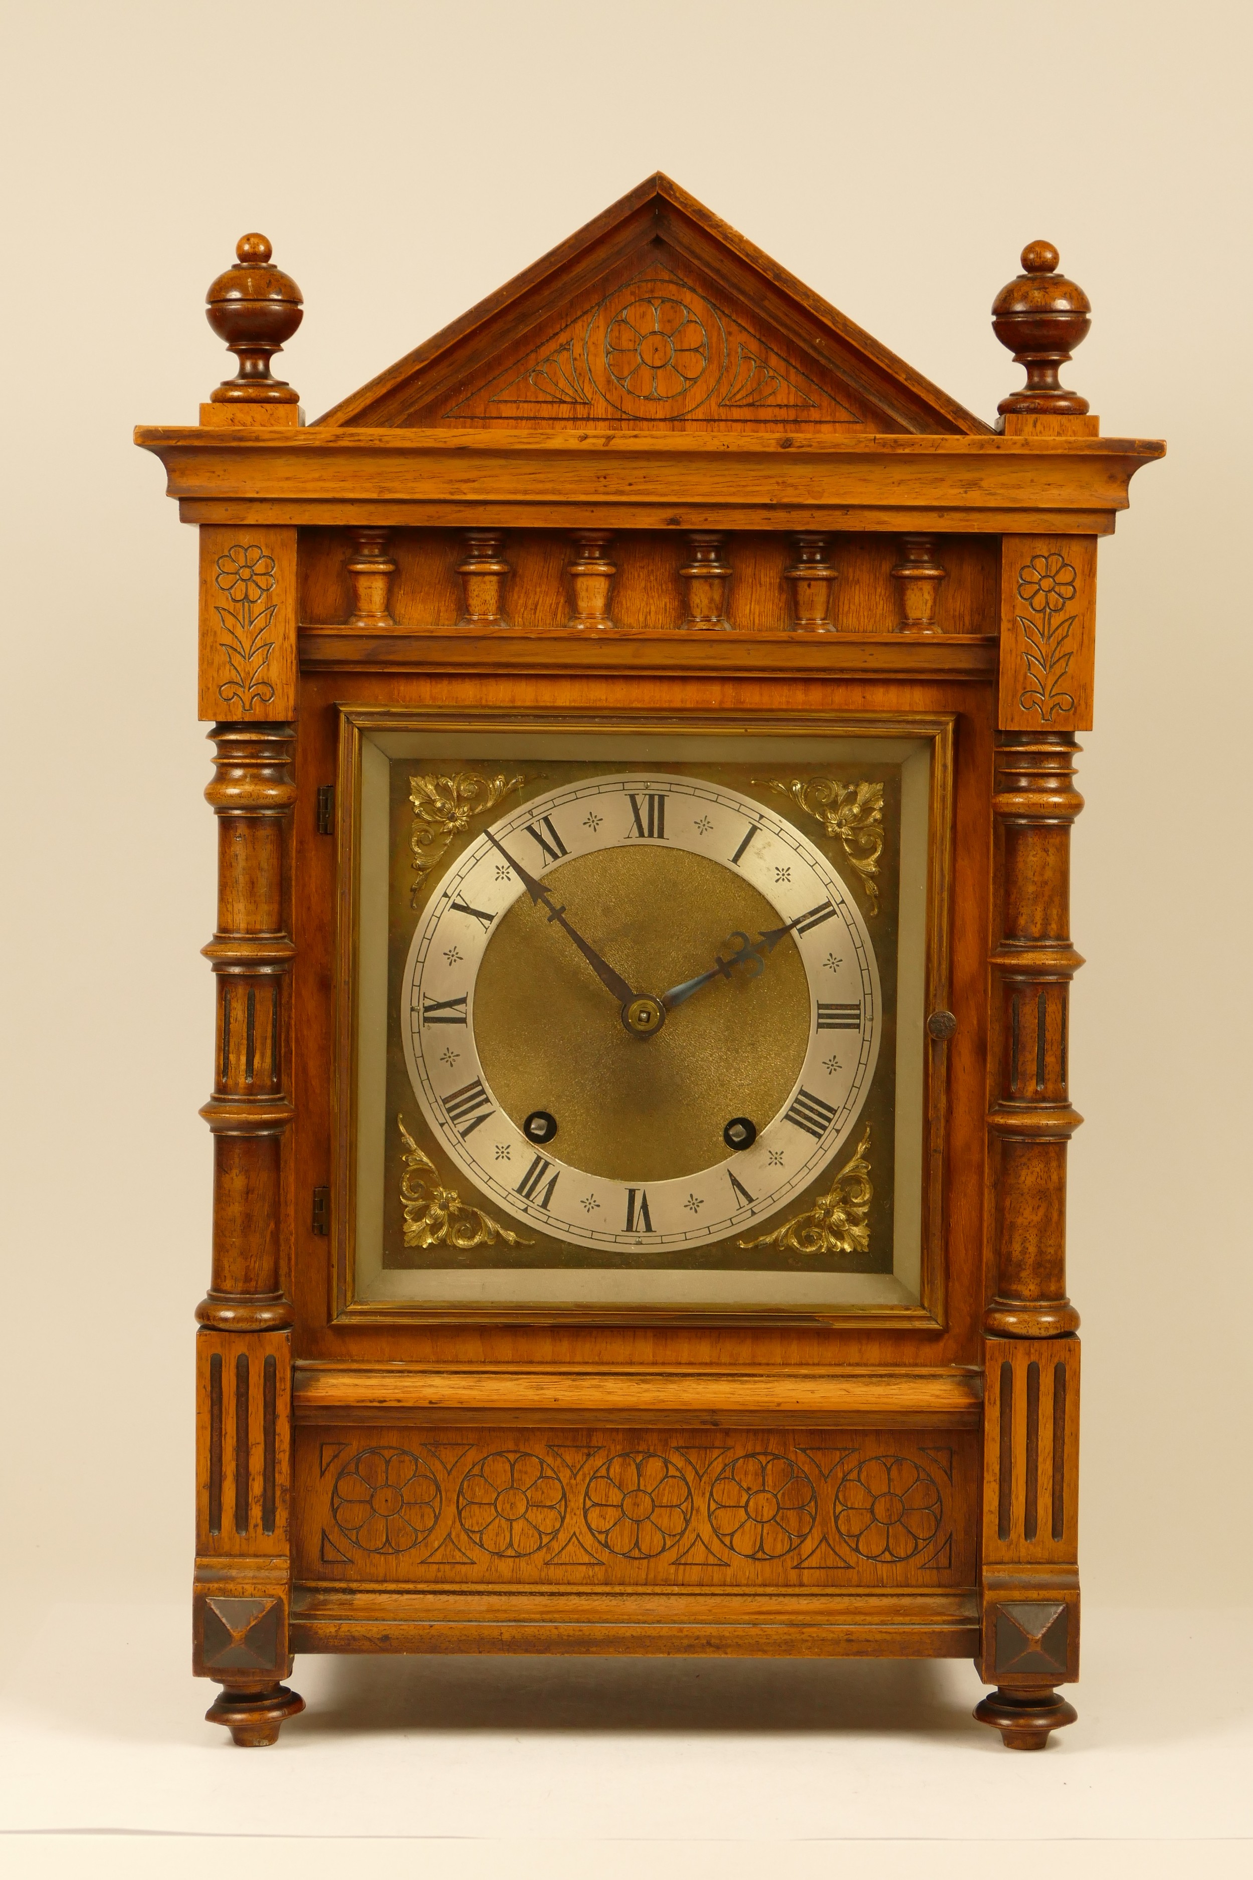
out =
{"type": "Polygon", "coordinates": [[[592,776],[502,816],[430,895],[404,972],[426,1122],[560,1241],[704,1246],[853,1132],[881,1032],[853,899],[725,786],[592,776]]]}

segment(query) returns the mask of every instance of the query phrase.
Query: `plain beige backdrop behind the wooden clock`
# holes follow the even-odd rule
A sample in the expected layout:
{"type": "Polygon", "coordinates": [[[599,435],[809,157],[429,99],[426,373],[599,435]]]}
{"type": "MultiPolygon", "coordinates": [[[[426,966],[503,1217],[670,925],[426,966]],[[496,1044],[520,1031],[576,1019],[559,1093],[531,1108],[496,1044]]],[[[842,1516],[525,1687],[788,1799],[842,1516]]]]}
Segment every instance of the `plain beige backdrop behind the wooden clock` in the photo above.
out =
{"type": "MultiPolygon", "coordinates": [[[[1165,436],[1101,549],[1071,1292],[1093,1600],[1247,1596],[1249,11],[1082,0],[11,6],[0,1562],[180,1596],[209,1271],[214,910],[195,540],[130,427],[193,423],[244,229],[310,417],[667,169],[973,410],[1048,237],[1069,372],[1165,436]]],[[[6,1600],[9,1613],[21,1600],[6,1600]]]]}

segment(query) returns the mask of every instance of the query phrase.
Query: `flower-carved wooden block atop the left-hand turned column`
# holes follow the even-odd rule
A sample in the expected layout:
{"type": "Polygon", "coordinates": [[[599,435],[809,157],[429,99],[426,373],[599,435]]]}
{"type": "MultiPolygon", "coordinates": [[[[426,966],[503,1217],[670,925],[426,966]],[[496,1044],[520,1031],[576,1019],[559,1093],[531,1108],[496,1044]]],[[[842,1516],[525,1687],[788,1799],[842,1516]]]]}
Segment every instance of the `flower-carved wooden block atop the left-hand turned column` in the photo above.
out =
{"type": "Polygon", "coordinates": [[[199,716],[297,714],[297,532],[201,526],[199,716]]]}

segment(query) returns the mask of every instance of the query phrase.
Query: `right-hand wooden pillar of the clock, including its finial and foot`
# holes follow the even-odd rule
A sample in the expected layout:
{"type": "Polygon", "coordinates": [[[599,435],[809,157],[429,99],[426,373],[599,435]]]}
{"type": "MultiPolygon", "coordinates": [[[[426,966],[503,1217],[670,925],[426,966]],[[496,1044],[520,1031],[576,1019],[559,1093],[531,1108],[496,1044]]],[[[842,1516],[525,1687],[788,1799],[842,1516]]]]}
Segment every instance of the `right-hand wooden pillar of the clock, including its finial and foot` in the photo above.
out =
{"type": "MultiPolygon", "coordinates": [[[[1028,368],[1001,399],[1009,436],[1093,436],[1058,367],[1088,333],[1088,297],[1029,243],[994,305],[994,331],[1028,368]]],[[[1071,1107],[1071,825],[1076,731],[1091,728],[1095,541],[1001,540],[996,840],[990,953],[990,1299],[984,1327],[979,1673],[998,1688],[975,1716],[1018,1750],[1075,1720],[1056,1692],[1078,1677],[1078,1312],[1065,1290],[1071,1107]]]]}

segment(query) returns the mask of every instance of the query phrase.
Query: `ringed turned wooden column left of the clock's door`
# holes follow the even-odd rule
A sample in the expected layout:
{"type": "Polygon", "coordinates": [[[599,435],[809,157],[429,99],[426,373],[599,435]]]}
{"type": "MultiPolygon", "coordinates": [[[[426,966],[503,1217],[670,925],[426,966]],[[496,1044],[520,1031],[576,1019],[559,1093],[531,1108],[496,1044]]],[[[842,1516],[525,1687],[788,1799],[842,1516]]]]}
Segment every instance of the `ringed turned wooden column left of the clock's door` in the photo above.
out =
{"type": "Polygon", "coordinates": [[[295,728],[218,724],[218,931],[205,948],[218,987],[214,1094],[201,1115],[214,1136],[212,1277],[205,1325],[261,1331],[291,1324],[278,1269],[286,1096],[286,989],[295,948],[286,932],[284,848],[295,803],[295,728]]]}

